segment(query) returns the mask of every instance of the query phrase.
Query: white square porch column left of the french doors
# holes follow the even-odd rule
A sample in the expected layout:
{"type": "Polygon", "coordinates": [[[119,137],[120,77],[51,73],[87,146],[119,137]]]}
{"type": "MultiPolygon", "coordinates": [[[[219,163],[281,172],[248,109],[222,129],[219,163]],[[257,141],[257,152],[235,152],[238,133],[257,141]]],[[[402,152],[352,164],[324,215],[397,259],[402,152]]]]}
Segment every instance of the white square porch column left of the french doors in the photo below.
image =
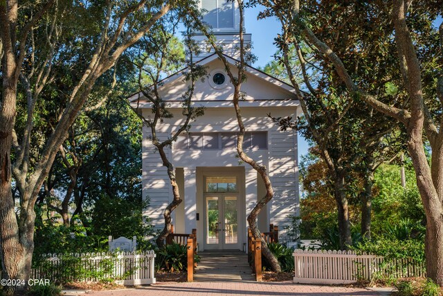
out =
{"type": "Polygon", "coordinates": [[[197,182],[195,168],[183,168],[185,179],[185,233],[197,229],[197,182]]]}

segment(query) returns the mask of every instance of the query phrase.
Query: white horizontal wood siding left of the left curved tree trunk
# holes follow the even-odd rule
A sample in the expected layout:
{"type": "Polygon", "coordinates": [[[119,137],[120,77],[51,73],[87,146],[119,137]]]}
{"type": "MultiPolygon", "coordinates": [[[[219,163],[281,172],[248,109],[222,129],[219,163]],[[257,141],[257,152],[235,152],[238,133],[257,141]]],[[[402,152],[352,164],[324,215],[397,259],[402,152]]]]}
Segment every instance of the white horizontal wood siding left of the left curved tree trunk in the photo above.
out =
{"type": "MultiPolygon", "coordinates": [[[[168,133],[159,133],[159,139],[168,139],[168,133]]],[[[144,211],[144,216],[151,219],[156,228],[163,228],[163,212],[172,200],[171,184],[168,170],[163,166],[159,152],[150,140],[150,132],[143,127],[143,198],[149,198],[150,203],[144,211]]],[[[170,149],[166,149],[170,157],[170,149]]]]}

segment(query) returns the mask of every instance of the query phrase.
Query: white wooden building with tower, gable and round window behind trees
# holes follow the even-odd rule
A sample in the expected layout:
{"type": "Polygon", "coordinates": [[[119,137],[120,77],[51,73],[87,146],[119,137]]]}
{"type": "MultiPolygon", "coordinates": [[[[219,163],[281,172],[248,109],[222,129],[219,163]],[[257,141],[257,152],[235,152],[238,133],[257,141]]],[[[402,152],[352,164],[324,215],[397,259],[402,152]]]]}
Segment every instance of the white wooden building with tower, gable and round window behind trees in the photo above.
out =
{"type": "MultiPolygon", "coordinates": [[[[234,1],[235,2],[235,1],[234,1]]],[[[226,0],[203,0],[208,10],[205,20],[213,26],[217,40],[223,44],[228,62],[235,69],[237,58],[239,12],[235,3],[226,0]]],[[[245,34],[246,42],[251,35],[245,34]]],[[[195,35],[201,41],[204,37],[195,35]]],[[[243,250],[246,244],[246,217],[255,202],[265,195],[260,175],[248,164],[239,162],[235,150],[239,128],[233,108],[233,86],[224,71],[224,64],[215,53],[204,52],[197,57],[207,67],[208,78],[197,82],[192,103],[203,105],[204,116],[192,123],[190,132],[181,135],[168,157],[174,164],[183,202],[172,214],[176,233],[197,229],[199,250],[243,250]]],[[[267,209],[260,213],[258,225],[262,232],[273,223],[283,229],[289,214],[298,216],[298,153],[297,134],[280,132],[268,118],[300,114],[293,88],[262,71],[247,67],[247,80],[242,85],[246,99],[240,102],[246,126],[245,151],[269,171],[275,192],[267,209]]],[[[166,78],[159,88],[163,100],[170,103],[174,114],[159,125],[159,137],[166,139],[183,123],[181,96],[188,83],[183,71],[166,78]]],[[[135,94],[145,117],[151,113],[150,103],[135,94]]],[[[149,128],[143,128],[143,197],[150,198],[145,215],[156,227],[163,228],[163,211],[172,201],[172,187],[159,153],[150,142],[149,128]]],[[[284,232],[281,232],[284,236],[284,232]]]]}

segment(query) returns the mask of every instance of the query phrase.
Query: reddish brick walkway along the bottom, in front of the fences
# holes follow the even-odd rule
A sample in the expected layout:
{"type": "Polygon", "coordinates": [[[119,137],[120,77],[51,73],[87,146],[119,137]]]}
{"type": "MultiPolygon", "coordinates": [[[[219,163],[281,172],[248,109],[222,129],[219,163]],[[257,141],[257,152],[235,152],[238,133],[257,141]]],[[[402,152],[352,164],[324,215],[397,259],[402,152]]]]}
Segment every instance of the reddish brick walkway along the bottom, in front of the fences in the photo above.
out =
{"type": "Polygon", "coordinates": [[[201,282],[154,284],[142,288],[107,290],[88,293],[88,296],[221,296],[221,295],[276,295],[276,296],[380,296],[364,288],[343,288],[338,286],[309,286],[291,282],[201,282]]]}

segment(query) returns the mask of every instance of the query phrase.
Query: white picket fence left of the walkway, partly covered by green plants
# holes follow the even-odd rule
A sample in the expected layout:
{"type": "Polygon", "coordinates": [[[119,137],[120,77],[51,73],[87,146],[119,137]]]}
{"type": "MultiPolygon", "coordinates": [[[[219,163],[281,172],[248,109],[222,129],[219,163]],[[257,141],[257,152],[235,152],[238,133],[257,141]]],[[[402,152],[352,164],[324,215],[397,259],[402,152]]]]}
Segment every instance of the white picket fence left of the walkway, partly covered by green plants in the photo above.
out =
{"type": "Polygon", "coordinates": [[[82,253],[47,254],[39,268],[31,270],[31,279],[51,281],[115,280],[125,286],[155,284],[153,250],[134,254],[82,253]]]}

